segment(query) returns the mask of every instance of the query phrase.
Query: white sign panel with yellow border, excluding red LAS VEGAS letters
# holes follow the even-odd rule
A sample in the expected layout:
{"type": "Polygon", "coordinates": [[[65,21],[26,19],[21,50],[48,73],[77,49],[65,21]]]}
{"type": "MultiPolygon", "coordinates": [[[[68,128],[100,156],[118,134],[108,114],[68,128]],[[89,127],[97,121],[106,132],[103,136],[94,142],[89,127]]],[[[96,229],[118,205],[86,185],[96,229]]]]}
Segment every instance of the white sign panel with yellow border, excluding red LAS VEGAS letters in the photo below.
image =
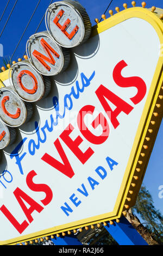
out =
{"type": "MultiPolygon", "coordinates": [[[[13,194],[15,189],[20,187],[43,209],[40,213],[37,211],[32,213],[33,221],[21,234],[1,212],[2,244],[11,244],[84,225],[114,220],[121,216],[124,205],[134,204],[135,194],[130,196],[131,202],[126,203],[128,191],[131,190],[131,184],[135,184],[133,191],[136,193],[139,191],[150,150],[153,147],[152,142],[158,131],[157,128],[151,128],[150,122],[154,120],[155,127],[158,127],[160,118],[153,113],[160,112],[161,115],[161,108],[155,111],[155,105],[162,84],[162,57],[159,55],[162,30],[162,22],[148,10],[128,9],[99,23],[98,27],[92,29],[92,37],[86,44],[72,50],[73,59],[68,70],[54,77],[52,92],[46,99],[36,102],[36,114],[29,124],[20,127],[20,135],[16,143],[4,150],[1,168],[7,162],[12,182],[8,182],[7,188],[3,187],[4,197],[1,198],[1,205],[4,204],[12,211],[12,215],[16,216],[19,223],[27,220],[13,194]],[[122,60],[127,66],[122,70],[121,75],[139,77],[146,84],[146,94],[137,105],[130,100],[136,95],[136,88],[119,87],[113,79],[115,66],[122,60]],[[95,93],[101,84],[133,108],[129,114],[122,112],[118,115],[120,125],[116,129],[112,126],[110,118],[106,115],[95,93]],[[77,95],[77,88],[83,89],[83,92],[80,92],[78,97],[74,97],[75,94],[77,95]],[[65,95],[69,96],[65,97],[65,95]],[[73,140],[77,136],[83,139],[79,147],[83,152],[89,147],[94,151],[90,159],[83,164],[60,139],[60,135],[70,123],[74,128],[78,128],[77,115],[85,105],[95,106],[93,119],[99,113],[103,113],[110,131],[108,139],[100,145],[87,142],[79,129],[72,131],[70,137],[73,140]],[[49,132],[43,127],[47,123],[50,127],[52,116],[56,125],[49,132]],[[150,133],[148,130],[153,132],[150,133]],[[152,134],[151,141],[145,143],[149,133],[152,134]],[[39,136],[40,144],[38,144],[39,136]],[[47,153],[61,162],[58,151],[54,147],[54,142],[58,138],[68,161],[72,164],[74,175],[71,179],[41,160],[47,153]],[[22,147],[18,150],[22,160],[21,166],[18,166],[14,150],[22,141],[22,147]],[[34,143],[37,144],[37,149],[34,143]],[[143,161],[140,160],[142,150],[145,150],[143,161]],[[139,168],[137,164],[140,164],[138,161],[142,161],[141,171],[135,175],[136,168],[139,168]],[[48,185],[53,192],[53,198],[46,206],[40,203],[45,198],[45,193],[34,192],[27,186],[26,177],[32,170],[36,173],[33,181],[36,184],[48,185]],[[101,171],[101,175],[98,171],[101,171]],[[69,211],[63,211],[63,206],[69,211]]],[[[8,84],[8,81],[4,83],[8,84]]],[[[114,110],[114,104],[110,101],[108,103],[114,110]]],[[[85,120],[88,127],[93,119],[89,117],[85,120]]],[[[100,136],[102,130],[99,128],[92,132],[100,136]]],[[[8,176],[4,178],[11,180],[8,176]]]]}

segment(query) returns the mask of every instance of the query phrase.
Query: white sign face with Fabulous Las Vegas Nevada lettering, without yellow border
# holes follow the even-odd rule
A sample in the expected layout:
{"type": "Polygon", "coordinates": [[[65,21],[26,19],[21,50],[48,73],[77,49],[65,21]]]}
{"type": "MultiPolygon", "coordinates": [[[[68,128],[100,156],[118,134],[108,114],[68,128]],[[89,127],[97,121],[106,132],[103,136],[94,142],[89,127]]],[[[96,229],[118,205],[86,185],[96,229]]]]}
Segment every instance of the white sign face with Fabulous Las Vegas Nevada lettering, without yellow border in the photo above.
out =
{"type": "Polygon", "coordinates": [[[1,241],[111,216],[159,45],[152,25],[134,17],[73,49],[70,67],[54,77],[51,93],[4,152],[1,241]]]}

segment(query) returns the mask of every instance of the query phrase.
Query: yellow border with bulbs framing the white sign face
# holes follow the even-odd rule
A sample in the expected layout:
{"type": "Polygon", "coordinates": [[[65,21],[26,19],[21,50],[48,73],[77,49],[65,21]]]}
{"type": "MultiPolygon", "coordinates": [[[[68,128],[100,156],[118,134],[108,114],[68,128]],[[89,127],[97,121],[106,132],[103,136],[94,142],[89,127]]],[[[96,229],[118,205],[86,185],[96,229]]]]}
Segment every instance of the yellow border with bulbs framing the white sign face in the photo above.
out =
{"type": "MultiPolygon", "coordinates": [[[[111,16],[109,19],[98,23],[92,27],[92,35],[102,33],[106,29],[109,29],[118,23],[121,23],[132,17],[138,17],[150,23],[159,36],[160,44],[163,45],[163,23],[162,21],[151,11],[145,8],[134,7],[121,11],[120,13],[111,16]]],[[[107,214],[98,215],[84,220],[59,225],[57,227],[49,228],[46,230],[38,231],[29,235],[16,237],[14,239],[0,241],[0,245],[15,245],[16,243],[33,240],[38,237],[48,236],[63,231],[76,229],[85,225],[91,225],[98,222],[105,222],[120,218],[122,212],[130,208],[135,204],[137,193],[139,192],[143,175],[151,155],[154,141],[159,130],[159,126],[162,118],[162,106],[161,97],[163,94],[163,56],[159,57],[158,64],[156,66],[155,74],[152,80],[152,84],[147,96],[147,101],[143,109],[140,124],[136,132],[133,148],[130,153],[126,172],[123,177],[122,185],[114,210],[107,214]],[[162,87],[162,88],[161,88],[162,87]],[[162,90],[162,92],[161,92],[162,90]],[[152,121],[152,123],[151,123],[152,121]],[[147,139],[148,138],[148,139],[147,139]],[[133,193],[130,194],[129,191],[133,193]]],[[[8,79],[8,70],[0,74],[1,81],[8,79]]],[[[124,212],[125,213],[125,212],[124,212]]]]}

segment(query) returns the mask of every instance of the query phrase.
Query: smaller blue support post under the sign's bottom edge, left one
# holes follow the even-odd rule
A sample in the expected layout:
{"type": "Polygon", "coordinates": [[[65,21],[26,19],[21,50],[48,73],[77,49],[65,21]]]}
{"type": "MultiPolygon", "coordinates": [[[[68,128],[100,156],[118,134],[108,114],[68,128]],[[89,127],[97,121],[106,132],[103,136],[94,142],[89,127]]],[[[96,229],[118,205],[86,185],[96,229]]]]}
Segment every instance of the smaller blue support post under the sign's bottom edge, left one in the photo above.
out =
{"type": "Polygon", "coordinates": [[[82,243],[73,234],[60,237],[54,235],[54,239],[51,238],[51,240],[54,245],[82,245],[82,243]]]}

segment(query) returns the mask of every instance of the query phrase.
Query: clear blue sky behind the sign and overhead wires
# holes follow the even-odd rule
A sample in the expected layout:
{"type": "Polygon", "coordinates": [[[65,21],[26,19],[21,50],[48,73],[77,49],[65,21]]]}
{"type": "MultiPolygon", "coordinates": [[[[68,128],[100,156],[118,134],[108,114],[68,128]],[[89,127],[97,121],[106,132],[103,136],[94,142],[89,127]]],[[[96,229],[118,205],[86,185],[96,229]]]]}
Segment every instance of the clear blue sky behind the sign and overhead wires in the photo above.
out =
{"type": "MultiPolygon", "coordinates": [[[[8,19],[9,13],[14,5],[16,0],[10,0],[10,3],[8,5],[7,10],[5,11],[5,14],[3,16],[3,19],[0,22],[0,34],[2,32],[2,29],[4,27],[5,22],[8,19]]],[[[113,0],[110,8],[116,13],[115,7],[120,7],[120,10],[123,9],[123,3],[127,3],[128,7],[131,7],[131,1],[128,0],[113,0]]],[[[3,13],[3,10],[5,8],[5,5],[7,4],[8,0],[1,1],[1,10],[0,10],[0,17],[3,13]]],[[[12,56],[12,53],[14,52],[18,41],[21,38],[21,35],[24,31],[24,29],[27,26],[27,23],[30,19],[30,16],[33,14],[33,11],[39,1],[38,0],[18,0],[16,7],[9,19],[8,25],[5,27],[3,34],[0,38],[0,43],[4,47],[4,56],[7,56],[8,58],[12,56]]],[[[12,60],[16,60],[23,56],[23,53],[26,49],[26,42],[30,35],[34,34],[36,31],[37,26],[40,23],[40,20],[42,19],[43,15],[45,14],[45,11],[49,5],[51,0],[41,0],[40,4],[36,10],[36,13],[33,16],[32,21],[30,22],[30,25],[28,26],[28,29],[26,33],[24,34],[20,45],[17,48],[17,51],[14,54],[14,57],[12,60]]],[[[55,2],[55,1],[53,1],[55,2]]],[[[101,15],[104,13],[105,9],[108,7],[108,4],[110,3],[110,0],[79,0],[79,2],[86,8],[87,13],[90,16],[92,26],[95,25],[95,18],[101,19],[101,15]]],[[[142,1],[136,1],[136,6],[141,6],[142,1]]],[[[152,6],[160,7],[163,9],[163,1],[160,0],[148,0],[147,1],[147,8],[151,8],[152,6]]],[[[108,11],[106,12],[106,17],[109,17],[108,11]]],[[[39,28],[38,32],[45,31],[45,20],[43,19],[41,26],[39,28]]],[[[2,58],[0,57],[0,66],[2,66],[2,58]]],[[[156,142],[152,151],[151,159],[149,160],[148,167],[146,170],[145,178],[143,180],[143,184],[146,185],[149,192],[151,192],[154,205],[157,209],[160,209],[160,211],[163,214],[163,198],[160,199],[158,197],[159,194],[159,186],[163,185],[163,153],[162,153],[162,131],[163,131],[163,122],[160,126],[160,130],[158,133],[158,136],[156,138],[156,142]]]]}

